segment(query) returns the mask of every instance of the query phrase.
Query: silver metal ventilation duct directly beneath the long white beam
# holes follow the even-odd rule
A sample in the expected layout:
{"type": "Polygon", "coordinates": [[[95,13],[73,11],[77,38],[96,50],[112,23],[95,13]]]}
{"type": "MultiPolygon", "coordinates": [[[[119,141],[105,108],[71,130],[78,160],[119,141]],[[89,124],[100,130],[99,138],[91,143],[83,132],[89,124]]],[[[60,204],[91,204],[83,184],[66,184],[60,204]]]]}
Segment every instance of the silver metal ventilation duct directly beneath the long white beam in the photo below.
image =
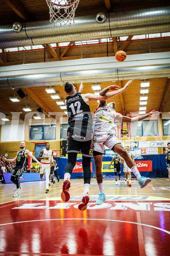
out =
{"type": "Polygon", "coordinates": [[[170,65],[131,67],[124,69],[103,69],[67,73],[39,74],[0,78],[0,89],[40,87],[70,83],[93,83],[113,80],[170,77],[170,65]]]}

